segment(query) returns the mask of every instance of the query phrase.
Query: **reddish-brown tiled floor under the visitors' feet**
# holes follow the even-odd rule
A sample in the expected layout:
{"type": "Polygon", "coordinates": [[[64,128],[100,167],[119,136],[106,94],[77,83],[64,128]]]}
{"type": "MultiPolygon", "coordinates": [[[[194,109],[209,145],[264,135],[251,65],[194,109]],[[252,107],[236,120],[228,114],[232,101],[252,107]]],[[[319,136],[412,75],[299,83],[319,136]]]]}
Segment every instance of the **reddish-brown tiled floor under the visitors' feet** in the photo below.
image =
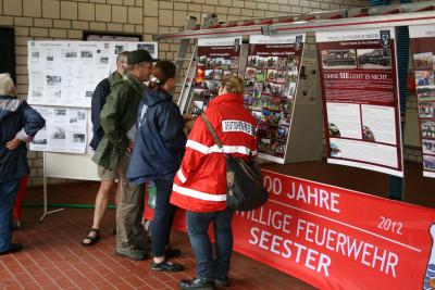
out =
{"type": "MultiPolygon", "coordinates": [[[[98,184],[50,186],[50,203],[89,204],[98,184]]],[[[42,189],[27,191],[26,204],[41,204],[42,189]]],[[[133,262],[114,254],[114,210],[109,210],[95,247],[84,248],[80,240],[90,226],[92,210],[65,209],[42,223],[40,207],[23,210],[24,228],[14,232],[14,241],[25,249],[0,256],[0,289],[177,289],[178,280],[195,275],[195,262],[185,234],[173,234],[173,245],[182,249],[176,262],[187,269],[178,274],[149,269],[150,260],[133,262]]],[[[302,281],[235,254],[231,289],[313,289],[302,281]]]]}

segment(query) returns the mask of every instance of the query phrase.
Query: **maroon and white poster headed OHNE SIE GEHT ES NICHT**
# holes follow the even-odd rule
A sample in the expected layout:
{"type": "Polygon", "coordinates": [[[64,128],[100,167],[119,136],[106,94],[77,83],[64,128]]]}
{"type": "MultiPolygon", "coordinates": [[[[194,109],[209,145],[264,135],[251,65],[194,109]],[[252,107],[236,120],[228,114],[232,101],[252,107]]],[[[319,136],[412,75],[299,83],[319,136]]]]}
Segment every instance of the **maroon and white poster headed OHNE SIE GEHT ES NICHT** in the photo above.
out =
{"type": "Polygon", "coordinates": [[[327,162],[403,176],[395,29],[315,37],[327,162]]]}

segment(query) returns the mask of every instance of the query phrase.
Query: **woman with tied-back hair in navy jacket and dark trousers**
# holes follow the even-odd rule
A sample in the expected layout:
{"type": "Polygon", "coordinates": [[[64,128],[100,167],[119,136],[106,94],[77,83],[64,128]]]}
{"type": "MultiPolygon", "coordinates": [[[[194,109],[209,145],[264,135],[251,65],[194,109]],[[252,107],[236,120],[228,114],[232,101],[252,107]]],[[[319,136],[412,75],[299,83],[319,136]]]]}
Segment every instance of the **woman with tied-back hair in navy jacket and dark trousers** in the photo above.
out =
{"type": "Polygon", "coordinates": [[[135,148],[127,178],[136,185],[152,180],[156,185],[156,209],[151,224],[151,269],[175,273],[183,265],[167,260],[181,254],[170,248],[170,232],[176,207],[170,204],[173,179],[183,160],[186,136],[185,121],[173,102],[176,66],[158,62],[138,108],[135,148]]]}

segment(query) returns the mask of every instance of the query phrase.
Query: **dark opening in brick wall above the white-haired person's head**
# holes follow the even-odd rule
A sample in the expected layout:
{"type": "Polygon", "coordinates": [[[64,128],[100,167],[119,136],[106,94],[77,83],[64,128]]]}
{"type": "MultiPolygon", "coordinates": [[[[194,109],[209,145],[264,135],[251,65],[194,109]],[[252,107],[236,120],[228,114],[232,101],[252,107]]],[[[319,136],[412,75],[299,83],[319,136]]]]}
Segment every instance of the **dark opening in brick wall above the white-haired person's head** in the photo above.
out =
{"type": "Polygon", "coordinates": [[[15,78],[15,34],[13,28],[0,27],[0,73],[15,78]]]}

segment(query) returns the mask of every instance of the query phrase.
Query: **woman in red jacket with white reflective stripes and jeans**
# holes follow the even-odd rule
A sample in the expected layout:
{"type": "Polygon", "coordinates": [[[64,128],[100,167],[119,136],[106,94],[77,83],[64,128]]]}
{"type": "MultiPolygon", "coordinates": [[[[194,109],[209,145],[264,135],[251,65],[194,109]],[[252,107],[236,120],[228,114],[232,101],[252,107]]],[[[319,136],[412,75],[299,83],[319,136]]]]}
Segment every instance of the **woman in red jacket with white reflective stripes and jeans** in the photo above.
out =
{"type": "MultiPolygon", "coordinates": [[[[257,123],[244,108],[243,92],[244,81],[239,77],[224,77],[220,96],[209,103],[204,113],[225,153],[235,157],[257,154],[257,123]]],[[[187,211],[187,230],[197,262],[197,277],[181,281],[181,289],[228,286],[234,212],[226,209],[225,201],[225,156],[202,118],[198,117],[187,140],[186,153],[171,194],[171,203],[187,211]],[[215,236],[215,259],[208,236],[211,222],[215,236]]]]}

